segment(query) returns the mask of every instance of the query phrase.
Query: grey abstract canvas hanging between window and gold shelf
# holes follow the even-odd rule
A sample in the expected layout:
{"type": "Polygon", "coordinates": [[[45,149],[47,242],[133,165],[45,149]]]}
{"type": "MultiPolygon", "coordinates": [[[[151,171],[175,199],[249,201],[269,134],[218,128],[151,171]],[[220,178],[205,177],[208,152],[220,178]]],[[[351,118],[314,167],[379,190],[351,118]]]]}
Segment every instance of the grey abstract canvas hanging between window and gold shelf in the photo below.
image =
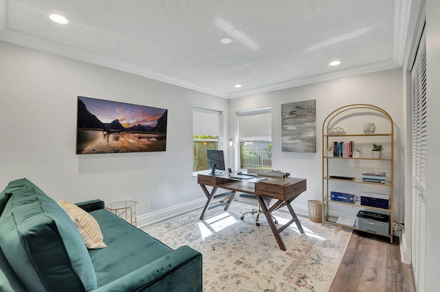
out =
{"type": "Polygon", "coordinates": [[[281,105],[281,150],[316,152],[316,99],[281,105]]]}

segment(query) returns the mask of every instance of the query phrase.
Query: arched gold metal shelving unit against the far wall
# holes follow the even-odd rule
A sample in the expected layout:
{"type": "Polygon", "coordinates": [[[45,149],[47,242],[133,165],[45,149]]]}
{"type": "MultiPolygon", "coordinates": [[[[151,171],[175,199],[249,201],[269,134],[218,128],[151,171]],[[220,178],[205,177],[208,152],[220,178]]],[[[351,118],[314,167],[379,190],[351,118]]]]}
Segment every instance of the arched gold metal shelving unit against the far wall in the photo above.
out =
{"type": "MultiPolygon", "coordinates": [[[[322,133],[322,224],[335,224],[353,230],[374,233],[371,232],[371,230],[362,230],[362,226],[357,226],[358,221],[356,221],[354,226],[344,225],[343,223],[346,222],[343,220],[339,220],[341,223],[338,223],[338,217],[353,220],[357,219],[356,214],[353,214],[353,212],[358,212],[358,210],[375,212],[380,215],[389,216],[390,222],[387,236],[391,243],[393,243],[393,119],[386,111],[377,106],[352,104],[333,110],[333,112],[325,118],[324,123],[322,123],[322,133]],[[377,128],[380,128],[381,131],[370,134],[362,133],[364,123],[360,121],[376,121],[374,118],[377,119],[377,128]],[[327,132],[327,129],[331,127],[343,127],[349,134],[330,134],[327,132]],[[353,127],[355,127],[354,130],[353,127]],[[360,130],[359,133],[356,133],[356,129],[360,130]],[[333,147],[333,150],[336,149],[335,146],[338,143],[342,145],[342,148],[338,145],[339,152],[328,151],[331,147],[333,147]],[[366,147],[366,145],[373,143],[383,143],[386,145],[388,151],[386,155],[384,155],[384,158],[373,158],[370,153],[362,154],[360,157],[347,157],[350,155],[353,156],[351,152],[354,151],[354,146],[358,147],[358,145],[362,145],[362,147],[366,147]],[[349,146],[345,144],[349,144],[349,146]],[[346,157],[333,156],[340,155],[341,149],[344,149],[344,156],[346,157]],[[362,171],[385,172],[385,183],[364,182],[362,180],[362,171]],[[342,180],[330,178],[331,175],[349,176],[355,179],[342,180]],[[356,195],[357,200],[354,204],[332,200],[330,196],[331,191],[356,195]],[[361,204],[360,195],[362,193],[388,196],[389,207],[380,208],[378,206],[366,206],[365,203],[361,204]]],[[[367,151],[363,149],[362,152],[367,151]]],[[[365,199],[365,197],[363,198],[365,199]]],[[[386,228],[384,230],[386,231],[386,228]]],[[[386,234],[386,232],[384,232],[384,234],[386,234]]]]}

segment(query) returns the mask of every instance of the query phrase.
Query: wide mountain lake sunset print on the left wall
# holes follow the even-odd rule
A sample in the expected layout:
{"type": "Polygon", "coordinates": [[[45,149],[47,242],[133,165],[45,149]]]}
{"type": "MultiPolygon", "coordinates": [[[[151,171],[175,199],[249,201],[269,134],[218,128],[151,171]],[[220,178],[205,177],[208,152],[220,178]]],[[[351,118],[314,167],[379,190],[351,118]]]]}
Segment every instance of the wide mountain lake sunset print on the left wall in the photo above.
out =
{"type": "Polygon", "coordinates": [[[166,151],[168,110],[78,96],[76,154],[166,151]]]}

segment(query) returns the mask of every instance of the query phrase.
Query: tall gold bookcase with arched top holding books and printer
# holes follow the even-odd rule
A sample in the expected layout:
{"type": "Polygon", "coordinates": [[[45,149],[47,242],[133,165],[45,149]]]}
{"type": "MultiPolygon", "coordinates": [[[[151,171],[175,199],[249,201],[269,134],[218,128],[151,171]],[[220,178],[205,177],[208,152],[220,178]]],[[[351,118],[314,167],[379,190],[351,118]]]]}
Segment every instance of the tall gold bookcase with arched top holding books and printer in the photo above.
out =
{"type": "MultiPolygon", "coordinates": [[[[322,224],[324,223],[331,223],[336,224],[338,226],[344,226],[347,228],[352,228],[354,230],[361,230],[365,232],[375,233],[374,230],[364,230],[359,229],[358,226],[349,226],[341,223],[342,220],[338,220],[338,217],[336,217],[334,214],[340,215],[339,217],[342,217],[344,215],[341,213],[341,209],[344,209],[343,206],[351,206],[351,208],[358,208],[359,210],[367,210],[369,212],[377,212],[380,214],[385,214],[389,216],[390,219],[390,226],[389,226],[389,232],[388,234],[381,234],[384,236],[388,236],[390,238],[391,243],[393,242],[393,166],[394,166],[394,127],[393,127],[393,119],[391,118],[391,115],[388,114],[385,110],[382,108],[379,108],[377,106],[373,106],[371,104],[350,104],[348,106],[342,106],[340,108],[337,108],[336,110],[333,110],[324,120],[322,123],[322,224]],[[359,123],[360,117],[363,116],[375,116],[377,119],[380,119],[381,121],[384,120],[383,125],[385,127],[386,124],[388,126],[385,127],[386,130],[383,130],[384,127],[382,127],[382,131],[380,132],[374,132],[371,133],[363,133],[360,131],[361,124],[359,123]],[[354,121],[354,123],[351,123],[351,119],[354,121]],[[335,127],[337,123],[342,123],[342,125],[349,125],[350,130],[347,132],[344,132],[344,134],[340,134],[338,132],[329,132],[329,128],[335,127]],[[356,124],[356,127],[353,126],[353,124],[356,124]],[[354,130],[353,130],[354,129],[354,130]],[[369,157],[367,154],[364,154],[362,157],[334,157],[327,153],[327,149],[329,147],[332,147],[334,141],[351,141],[354,139],[360,139],[362,141],[370,141],[373,143],[374,139],[381,138],[386,141],[387,145],[390,146],[390,151],[388,151],[388,155],[384,158],[373,158],[369,157]],[[353,162],[355,161],[355,162],[353,162]],[[386,167],[386,182],[385,183],[374,183],[374,182],[365,182],[362,180],[362,175],[359,175],[360,169],[362,169],[362,164],[366,163],[369,165],[377,165],[382,164],[386,167]],[[347,169],[342,167],[344,171],[347,173],[351,173],[351,180],[341,180],[338,178],[331,178],[332,176],[340,176],[338,173],[331,173],[333,169],[338,169],[339,165],[348,165],[347,169]],[[350,165],[355,165],[353,169],[350,169],[350,165]],[[358,172],[357,172],[358,171],[358,172]],[[358,177],[355,177],[358,176],[358,177]],[[353,179],[354,178],[354,179],[353,179]],[[334,185],[346,185],[347,188],[350,188],[350,184],[362,184],[358,189],[364,189],[369,190],[369,188],[375,190],[377,188],[384,188],[385,191],[383,193],[386,193],[389,195],[389,207],[388,208],[377,208],[373,206],[364,206],[361,205],[360,202],[356,201],[355,204],[352,203],[346,203],[346,202],[338,202],[333,201],[331,199],[331,189],[332,188],[338,188],[333,187],[333,183],[336,183],[334,185]],[[332,212],[333,206],[339,206],[338,212],[332,212]],[[342,207],[341,207],[342,206],[342,207]]],[[[366,143],[366,142],[364,142],[366,143]]],[[[341,167],[340,167],[341,168],[341,167]]],[[[339,168],[339,169],[340,169],[339,168]]],[[[359,186],[359,185],[358,185],[359,186]]],[[[360,197],[357,197],[360,200],[360,197]]],[[[348,207],[347,207],[348,208],[348,207]]],[[[351,217],[351,220],[353,220],[353,214],[347,215],[348,218],[351,217]]]]}

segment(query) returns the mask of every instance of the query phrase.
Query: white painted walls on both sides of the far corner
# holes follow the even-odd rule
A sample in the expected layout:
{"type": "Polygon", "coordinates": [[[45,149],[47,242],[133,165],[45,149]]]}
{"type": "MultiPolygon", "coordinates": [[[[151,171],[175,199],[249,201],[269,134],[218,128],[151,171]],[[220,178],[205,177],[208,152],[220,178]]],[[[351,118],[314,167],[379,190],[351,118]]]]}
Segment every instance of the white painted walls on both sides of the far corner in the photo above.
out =
{"type": "Polygon", "coordinates": [[[395,122],[395,219],[403,218],[400,69],[227,100],[4,42],[0,51],[0,185],[27,177],[54,199],[133,199],[140,223],[148,223],[205,202],[192,176],[193,106],[225,112],[225,136],[228,127],[236,132],[236,111],[272,107],[273,166],[307,178],[295,201],[307,212],[307,199],[321,197],[323,120],[340,106],[366,103],[395,122]],[[77,95],[168,109],[166,151],[76,155],[77,95]],[[309,99],[316,99],[316,153],[282,152],[281,104],[309,99]]]}

